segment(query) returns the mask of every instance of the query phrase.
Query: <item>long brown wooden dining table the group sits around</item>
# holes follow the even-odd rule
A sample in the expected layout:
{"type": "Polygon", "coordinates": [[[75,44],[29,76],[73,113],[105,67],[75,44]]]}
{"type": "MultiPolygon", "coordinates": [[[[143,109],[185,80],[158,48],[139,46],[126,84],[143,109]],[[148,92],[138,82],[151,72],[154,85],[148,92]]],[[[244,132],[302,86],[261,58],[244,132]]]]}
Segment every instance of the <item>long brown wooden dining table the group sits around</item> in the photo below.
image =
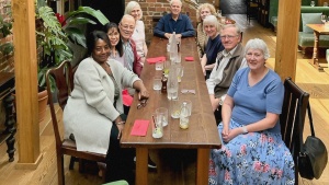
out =
{"type": "MultiPolygon", "coordinates": [[[[148,47],[147,58],[167,57],[167,44],[168,39],[154,37],[148,47]]],[[[162,71],[156,70],[154,63],[146,61],[140,79],[149,91],[150,96],[146,106],[137,109],[139,101],[137,94],[135,94],[121,138],[122,147],[136,148],[136,185],[148,184],[148,150],[162,148],[196,149],[195,181],[197,185],[205,185],[208,182],[209,151],[212,148],[219,149],[222,146],[196,50],[195,38],[182,38],[180,51],[182,57],[181,66],[184,67],[184,72],[179,83],[179,100],[190,100],[192,102],[190,126],[188,129],[181,129],[179,119],[170,117],[170,101],[167,99],[167,93],[152,89],[154,78],[161,77],[162,71]],[[194,60],[185,61],[185,57],[193,57],[194,60]],[[181,90],[183,89],[195,90],[195,94],[182,93],[181,90]],[[151,135],[151,124],[154,123],[151,116],[158,107],[167,107],[169,109],[169,124],[163,127],[162,138],[155,139],[151,135]],[[137,119],[149,120],[146,136],[131,135],[134,123],[137,119]]]]}

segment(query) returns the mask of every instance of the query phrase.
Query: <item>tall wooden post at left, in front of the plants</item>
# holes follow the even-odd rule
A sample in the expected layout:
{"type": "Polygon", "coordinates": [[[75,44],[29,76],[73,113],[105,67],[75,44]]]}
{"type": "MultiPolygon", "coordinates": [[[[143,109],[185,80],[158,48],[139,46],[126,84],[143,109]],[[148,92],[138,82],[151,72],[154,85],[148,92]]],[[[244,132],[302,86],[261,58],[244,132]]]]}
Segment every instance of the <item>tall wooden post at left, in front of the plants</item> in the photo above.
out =
{"type": "Polygon", "coordinates": [[[35,7],[31,0],[12,0],[13,44],[15,47],[15,94],[19,130],[16,167],[35,169],[39,152],[35,7]],[[20,165],[21,164],[21,165],[20,165]]]}

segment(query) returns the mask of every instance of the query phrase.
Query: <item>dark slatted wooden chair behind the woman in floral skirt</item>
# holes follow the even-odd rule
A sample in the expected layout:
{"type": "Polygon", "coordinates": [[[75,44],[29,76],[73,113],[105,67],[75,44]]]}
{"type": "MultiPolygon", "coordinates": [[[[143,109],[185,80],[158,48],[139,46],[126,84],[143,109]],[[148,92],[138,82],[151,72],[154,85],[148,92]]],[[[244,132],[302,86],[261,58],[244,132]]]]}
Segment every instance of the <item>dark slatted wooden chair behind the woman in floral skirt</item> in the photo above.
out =
{"type": "Polygon", "coordinates": [[[284,101],[280,115],[281,134],[283,141],[292,152],[295,161],[295,184],[298,185],[297,155],[300,151],[299,135],[303,135],[306,108],[309,94],[298,88],[291,78],[284,81],[284,101]],[[302,115],[302,116],[299,116],[302,115]],[[302,128],[298,125],[302,118],[302,128]]]}

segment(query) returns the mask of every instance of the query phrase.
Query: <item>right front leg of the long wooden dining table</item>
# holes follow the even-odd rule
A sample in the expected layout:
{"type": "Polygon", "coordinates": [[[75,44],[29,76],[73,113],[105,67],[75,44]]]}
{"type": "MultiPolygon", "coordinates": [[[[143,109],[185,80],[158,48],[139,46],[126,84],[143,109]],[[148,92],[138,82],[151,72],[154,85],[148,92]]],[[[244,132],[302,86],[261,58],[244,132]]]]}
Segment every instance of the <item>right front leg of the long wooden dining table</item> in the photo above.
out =
{"type": "Polygon", "coordinates": [[[211,149],[197,149],[196,185],[208,184],[211,149]]]}

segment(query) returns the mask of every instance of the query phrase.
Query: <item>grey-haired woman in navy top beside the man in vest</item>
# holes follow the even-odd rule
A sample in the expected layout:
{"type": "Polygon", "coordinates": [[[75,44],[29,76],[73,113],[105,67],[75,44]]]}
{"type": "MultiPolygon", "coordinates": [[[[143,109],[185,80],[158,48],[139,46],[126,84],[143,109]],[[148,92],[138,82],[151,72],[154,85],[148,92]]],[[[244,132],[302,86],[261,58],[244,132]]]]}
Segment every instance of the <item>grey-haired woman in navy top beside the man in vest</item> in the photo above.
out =
{"type": "Polygon", "coordinates": [[[205,79],[207,80],[215,66],[217,54],[224,49],[224,46],[219,36],[219,23],[215,15],[207,15],[204,19],[203,30],[207,35],[208,42],[205,48],[205,54],[201,59],[201,66],[203,73],[205,74],[205,79]]]}

